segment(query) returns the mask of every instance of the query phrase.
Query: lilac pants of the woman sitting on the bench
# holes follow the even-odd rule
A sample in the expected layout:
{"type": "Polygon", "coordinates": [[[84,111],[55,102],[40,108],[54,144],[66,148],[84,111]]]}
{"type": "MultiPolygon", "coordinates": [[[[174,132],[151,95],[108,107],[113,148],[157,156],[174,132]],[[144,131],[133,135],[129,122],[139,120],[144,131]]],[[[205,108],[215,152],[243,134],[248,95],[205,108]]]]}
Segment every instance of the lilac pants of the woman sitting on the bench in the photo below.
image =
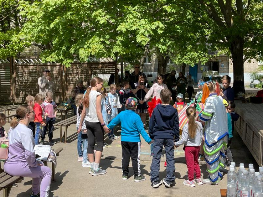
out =
{"type": "Polygon", "coordinates": [[[47,166],[30,167],[27,163],[5,163],[4,170],[11,176],[31,177],[32,192],[40,197],[48,197],[51,183],[52,171],[47,166]]]}

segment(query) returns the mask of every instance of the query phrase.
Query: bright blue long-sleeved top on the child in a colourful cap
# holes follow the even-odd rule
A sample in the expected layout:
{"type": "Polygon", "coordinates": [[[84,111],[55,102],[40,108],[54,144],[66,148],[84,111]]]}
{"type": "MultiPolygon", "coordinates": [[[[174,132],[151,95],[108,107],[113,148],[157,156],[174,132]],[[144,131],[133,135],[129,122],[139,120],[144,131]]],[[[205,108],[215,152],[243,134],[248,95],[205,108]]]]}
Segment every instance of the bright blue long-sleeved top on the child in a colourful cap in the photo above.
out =
{"type": "Polygon", "coordinates": [[[121,123],[121,141],[123,142],[140,142],[140,134],[147,143],[152,140],[144,130],[141,118],[134,110],[125,110],[119,113],[108,124],[109,129],[113,129],[117,124],[121,123]]]}

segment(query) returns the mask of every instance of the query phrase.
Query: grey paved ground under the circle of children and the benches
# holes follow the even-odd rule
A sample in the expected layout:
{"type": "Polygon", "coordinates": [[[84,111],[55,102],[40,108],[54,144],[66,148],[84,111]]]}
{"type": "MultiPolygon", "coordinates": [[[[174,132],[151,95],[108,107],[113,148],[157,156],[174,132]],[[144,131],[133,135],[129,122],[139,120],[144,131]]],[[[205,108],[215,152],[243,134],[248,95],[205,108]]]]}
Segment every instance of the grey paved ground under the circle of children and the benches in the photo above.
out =
{"type": "MultiPolygon", "coordinates": [[[[253,89],[252,89],[253,90],[253,89]]],[[[255,91],[257,92],[257,91],[255,91]]],[[[2,106],[1,106],[2,108],[2,106]]],[[[14,113],[14,111],[12,111],[14,113]]],[[[58,116],[58,119],[60,117],[58,116]]],[[[9,124],[4,126],[6,130],[9,129],[9,124]]],[[[120,129],[120,127],[118,127],[120,129]]],[[[116,129],[117,131],[117,129],[116,129]]],[[[118,130],[116,135],[120,135],[118,130]]],[[[63,147],[64,150],[59,154],[58,166],[56,168],[56,181],[51,182],[50,196],[64,197],[64,196],[193,196],[196,197],[216,197],[220,196],[220,188],[226,188],[226,175],[224,175],[218,186],[203,185],[191,188],[183,185],[183,180],[187,179],[187,166],[184,159],[183,146],[175,149],[175,185],[172,188],[165,188],[164,185],[158,189],[153,189],[150,185],[150,165],[152,157],[150,157],[149,145],[142,139],[141,146],[141,171],[146,176],[146,180],[136,183],[133,179],[132,167],[130,165],[130,178],[127,181],[121,179],[121,143],[120,139],[110,141],[108,148],[104,149],[101,166],[107,170],[105,175],[93,177],[88,174],[89,168],[81,167],[81,162],[77,161],[77,133],[75,124],[68,128],[67,143],[59,143],[59,128],[54,130],[54,140],[58,143],[53,148],[63,147]]],[[[233,152],[234,161],[239,166],[239,163],[245,163],[248,168],[249,163],[254,164],[256,171],[258,165],[249,150],[244,145],[239,135],[235,132],[232,140],[231,149],[233,152]]],[[[165,178],[165,158],[161,160],[160,178],[165,178]]],[[[2,163],[3,166],[3,163],[2,163]]],[[[49,164],[51,167],[51,164],[49,164]]],[[[206,165],[200,163],[202,176],[206,177],[206,165]]],[[[31,178],[24,178],[18,183],[18,187],[11,190],[11,197],[28,197],[31,192],[31,178]]],[[[2,196],[2,192],[0,192],[2,196]]]]}

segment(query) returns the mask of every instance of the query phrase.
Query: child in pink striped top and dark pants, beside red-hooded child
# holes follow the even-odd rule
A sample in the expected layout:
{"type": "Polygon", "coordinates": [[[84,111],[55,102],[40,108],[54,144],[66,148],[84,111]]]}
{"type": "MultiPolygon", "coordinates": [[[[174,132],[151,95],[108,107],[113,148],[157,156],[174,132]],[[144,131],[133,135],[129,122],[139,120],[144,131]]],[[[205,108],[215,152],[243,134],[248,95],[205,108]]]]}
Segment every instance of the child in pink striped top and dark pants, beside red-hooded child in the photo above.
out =
{"type": "Polygon", "coordinates": [[[53,138],[53,124],[55,123],[56,116],[57,116],[57,105],[53,100],[53,92],[48,91],[46,93],[46,100],[42,103],[42,107],[45,112],[46,117],[46,126],[43,129],[41,135],[41,142],[40,144],[44,144],[44,139],[46,135],[46,131],[48,129],[48,137],[49,137],[49,144],[55,144],[53,138]]]}

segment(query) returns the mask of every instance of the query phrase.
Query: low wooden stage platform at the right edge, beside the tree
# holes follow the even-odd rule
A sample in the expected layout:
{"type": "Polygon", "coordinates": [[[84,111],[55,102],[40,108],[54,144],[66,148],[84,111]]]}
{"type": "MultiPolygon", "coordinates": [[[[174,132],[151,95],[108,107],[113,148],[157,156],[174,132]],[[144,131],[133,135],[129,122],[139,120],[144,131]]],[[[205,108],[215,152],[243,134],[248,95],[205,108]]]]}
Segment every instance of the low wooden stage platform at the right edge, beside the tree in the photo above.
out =
{"type": "Polygon", "coordinates": [[[258,165],[263,166],[263,104],[236,103],[235,111],[240,115],[235,130],[258,165]]]}

